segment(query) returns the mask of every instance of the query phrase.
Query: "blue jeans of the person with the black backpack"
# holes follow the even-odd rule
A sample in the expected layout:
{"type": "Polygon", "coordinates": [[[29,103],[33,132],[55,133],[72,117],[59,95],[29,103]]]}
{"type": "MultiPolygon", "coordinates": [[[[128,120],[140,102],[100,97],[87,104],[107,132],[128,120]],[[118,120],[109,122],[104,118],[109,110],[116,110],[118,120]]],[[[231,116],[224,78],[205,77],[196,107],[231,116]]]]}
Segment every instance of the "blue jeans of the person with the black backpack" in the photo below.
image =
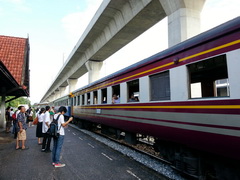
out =
{"type": "Polygon", "coordinates": [[[60,153],[62,150],[64,136],[60,135],[58,138],[53,138],[52,162],[60,162],[60,153]]]}

